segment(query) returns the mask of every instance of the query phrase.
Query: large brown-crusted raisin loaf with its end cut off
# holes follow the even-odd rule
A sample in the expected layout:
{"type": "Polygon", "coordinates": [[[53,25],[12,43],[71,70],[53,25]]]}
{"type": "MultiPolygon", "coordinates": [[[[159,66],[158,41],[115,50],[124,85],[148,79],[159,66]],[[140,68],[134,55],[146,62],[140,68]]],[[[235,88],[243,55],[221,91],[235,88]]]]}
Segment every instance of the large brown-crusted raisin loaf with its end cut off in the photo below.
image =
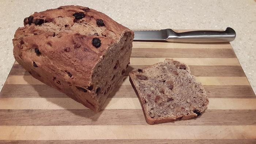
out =
{"type": "Polygon", "coordinates": [[[134,34],[82,6],[35,12],[14,35],[14,57],[29,73],[94,111],[123,77],[134,34]]]}

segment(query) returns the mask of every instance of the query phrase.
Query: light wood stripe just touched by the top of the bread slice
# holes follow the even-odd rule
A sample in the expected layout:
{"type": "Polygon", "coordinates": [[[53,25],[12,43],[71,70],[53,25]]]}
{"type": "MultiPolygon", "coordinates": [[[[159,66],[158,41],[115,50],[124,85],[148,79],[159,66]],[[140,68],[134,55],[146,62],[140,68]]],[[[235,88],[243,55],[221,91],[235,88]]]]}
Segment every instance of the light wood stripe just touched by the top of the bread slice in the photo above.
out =
{"type": "MultiPolygon", "coordinates": [[[[240,65],[237,58],[173,58],[187,65],[240,65]]],[[[131,65],[153,65],[165,58],[130,58],[131,65]]]]}

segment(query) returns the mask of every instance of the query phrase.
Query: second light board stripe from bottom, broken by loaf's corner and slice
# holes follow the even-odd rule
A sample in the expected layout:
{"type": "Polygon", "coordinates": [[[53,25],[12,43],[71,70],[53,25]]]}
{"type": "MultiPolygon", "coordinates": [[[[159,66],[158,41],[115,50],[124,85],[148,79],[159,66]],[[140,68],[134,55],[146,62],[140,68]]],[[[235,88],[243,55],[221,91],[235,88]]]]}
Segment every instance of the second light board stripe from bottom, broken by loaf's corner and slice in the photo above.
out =
{"type": "MultiPolygon", "coordinates": [[[[255,110],[256,99],[210,98],[208,109],[255,110]]],[[[0,109],[88,109],[71,98],[0,98],[0,109]]],[[[138,98],[108,98],[102,109],[142,109],[138,98]]]]}

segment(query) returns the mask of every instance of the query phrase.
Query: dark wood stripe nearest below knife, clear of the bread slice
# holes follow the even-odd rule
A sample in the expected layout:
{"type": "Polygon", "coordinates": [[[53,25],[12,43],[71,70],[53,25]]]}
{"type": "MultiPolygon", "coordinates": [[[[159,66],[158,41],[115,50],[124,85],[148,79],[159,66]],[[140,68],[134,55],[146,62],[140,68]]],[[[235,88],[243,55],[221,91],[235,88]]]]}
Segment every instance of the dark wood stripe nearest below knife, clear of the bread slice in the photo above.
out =
{"type": "Polygon", "coordinates": [[[232,49],[132,49],[131,57],[236,58],[232,49]]]}

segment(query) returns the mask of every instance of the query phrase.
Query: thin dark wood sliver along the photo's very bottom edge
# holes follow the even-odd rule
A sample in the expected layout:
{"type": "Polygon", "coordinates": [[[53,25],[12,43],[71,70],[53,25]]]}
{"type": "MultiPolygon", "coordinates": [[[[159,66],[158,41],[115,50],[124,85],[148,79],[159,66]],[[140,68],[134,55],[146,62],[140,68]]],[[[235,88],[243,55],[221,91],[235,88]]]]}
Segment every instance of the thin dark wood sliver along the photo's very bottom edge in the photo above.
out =
{"type": "Polygon", "coordinates": [[[255,144],[254,139],[0,140],[0,144],[255,144]]]}

